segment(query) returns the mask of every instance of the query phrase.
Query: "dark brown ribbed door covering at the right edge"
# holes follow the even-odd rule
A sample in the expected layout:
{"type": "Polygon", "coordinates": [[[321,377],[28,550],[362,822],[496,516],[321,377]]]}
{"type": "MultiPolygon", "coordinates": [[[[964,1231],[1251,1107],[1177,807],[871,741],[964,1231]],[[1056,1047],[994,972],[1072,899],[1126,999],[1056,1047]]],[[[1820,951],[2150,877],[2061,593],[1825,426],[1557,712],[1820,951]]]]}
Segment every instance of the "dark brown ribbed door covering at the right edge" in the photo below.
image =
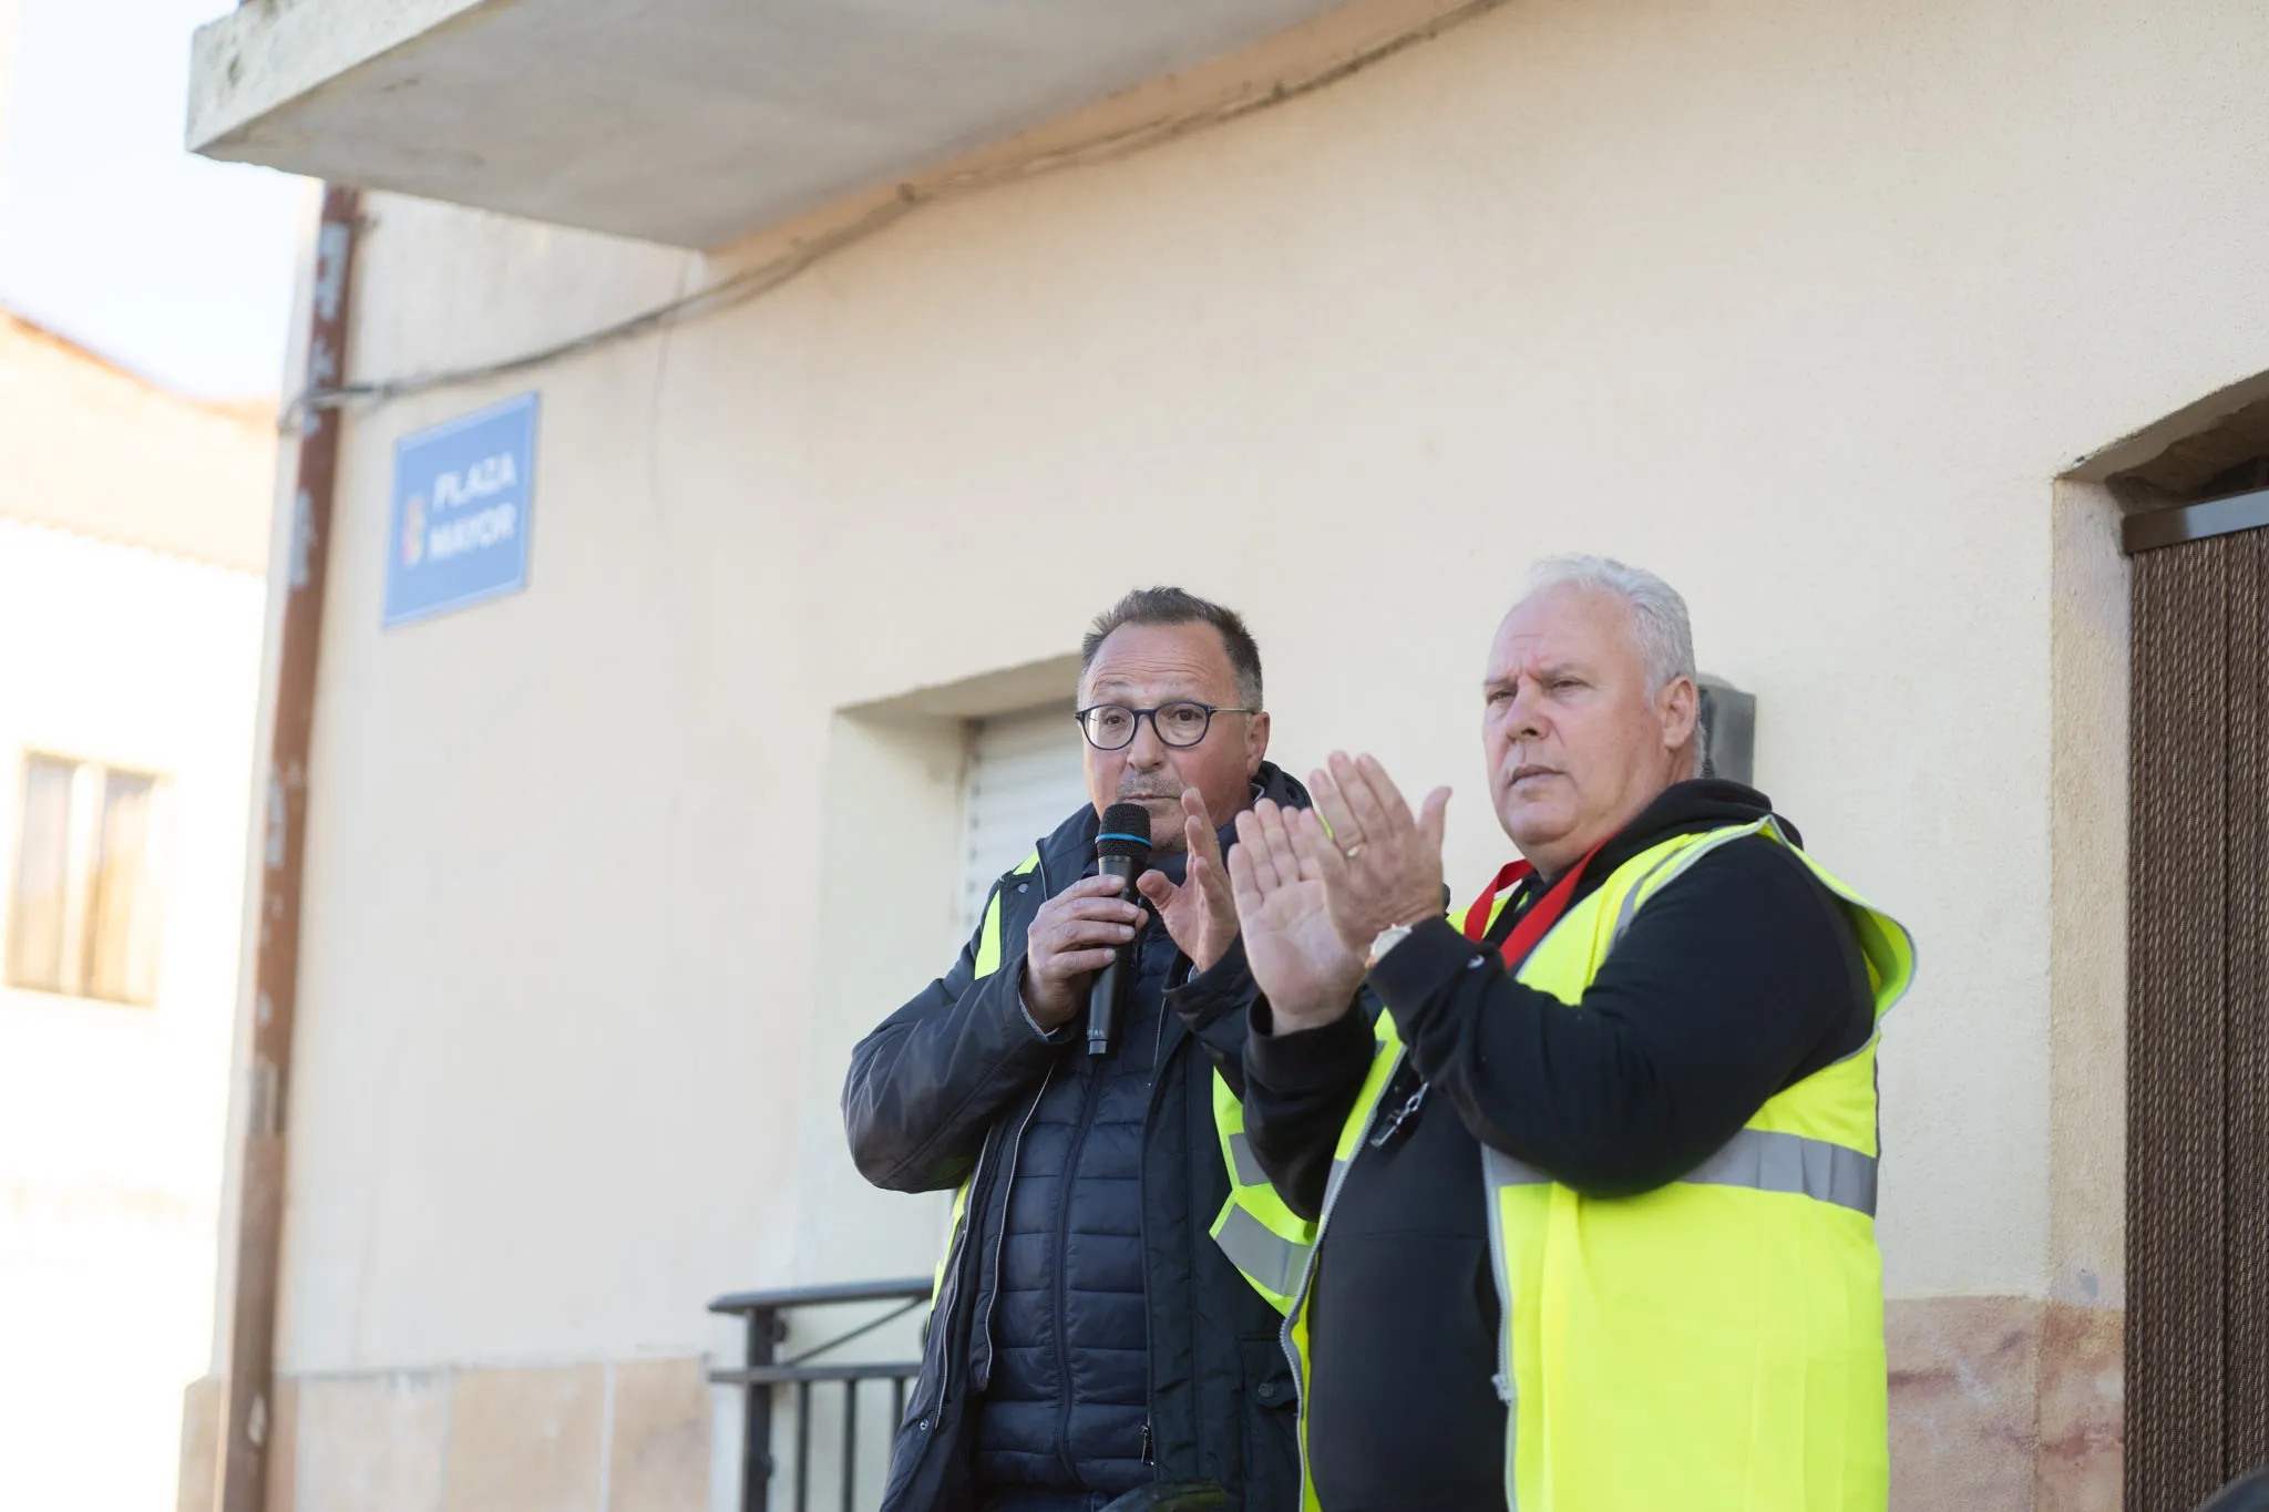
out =
{"type": "Polygon", "coordinates": [[[2269,530],[2135,555],[2131,700],[2126,1507],[2190,1512],[2269,1464],[2269,530]]]}

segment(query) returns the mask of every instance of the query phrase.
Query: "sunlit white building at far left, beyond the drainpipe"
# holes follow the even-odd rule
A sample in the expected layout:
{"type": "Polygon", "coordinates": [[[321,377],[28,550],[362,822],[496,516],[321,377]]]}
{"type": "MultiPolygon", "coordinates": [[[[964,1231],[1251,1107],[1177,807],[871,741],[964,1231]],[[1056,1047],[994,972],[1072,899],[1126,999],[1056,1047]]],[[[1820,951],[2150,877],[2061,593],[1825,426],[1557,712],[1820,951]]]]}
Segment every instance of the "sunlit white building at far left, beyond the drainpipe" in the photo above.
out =
{"type": "Polygon", "coordinates": [[[268,406],[0,311],[0,1505],[175,1496],[213,1351],[268,406]]]}

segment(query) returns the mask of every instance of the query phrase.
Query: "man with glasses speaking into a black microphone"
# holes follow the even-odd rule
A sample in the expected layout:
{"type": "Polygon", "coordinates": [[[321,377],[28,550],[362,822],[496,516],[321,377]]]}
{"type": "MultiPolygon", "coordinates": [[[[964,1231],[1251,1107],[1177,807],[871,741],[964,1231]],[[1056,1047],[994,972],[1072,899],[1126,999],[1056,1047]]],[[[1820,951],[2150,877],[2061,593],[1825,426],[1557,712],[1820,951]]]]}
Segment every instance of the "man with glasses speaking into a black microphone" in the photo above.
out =
{"type": "Polygon", "coordinates": [[[1257,798],[1305,807],[1266,762],[1259,648],[1175,587],[1121,598],[1082,646],[1089,805],[1003,875],[982,923],[851,1054],[860,1172],[955,1190],[889,1512],[1094,1512],[1150,1483],[1298,1503],[1275,1308],[1209,1238],[1230,1192],[1216,1133],[1243,1086],[1252,977],[1223,848],[1257,798]],[[1103,809],[1150,812],[1139,898],[1096,875],[1103,809]],[[1119,1052],[1089,1056],[1094,972],[1128,948],[1119,1052]]]}

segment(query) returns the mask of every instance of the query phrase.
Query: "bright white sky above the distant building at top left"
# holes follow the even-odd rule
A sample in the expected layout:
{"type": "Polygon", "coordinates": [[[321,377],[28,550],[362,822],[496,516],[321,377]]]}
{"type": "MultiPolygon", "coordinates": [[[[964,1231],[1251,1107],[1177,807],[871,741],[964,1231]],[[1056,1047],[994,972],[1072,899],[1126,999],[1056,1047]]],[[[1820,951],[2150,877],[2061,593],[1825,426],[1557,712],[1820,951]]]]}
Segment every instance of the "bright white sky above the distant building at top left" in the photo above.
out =
{"type": "Polygon", "coordinates": [[[227,7],[0,0],[0,304],[213,399],[284,381],[313,193],[182,147],[188,34],[227,7]]]}

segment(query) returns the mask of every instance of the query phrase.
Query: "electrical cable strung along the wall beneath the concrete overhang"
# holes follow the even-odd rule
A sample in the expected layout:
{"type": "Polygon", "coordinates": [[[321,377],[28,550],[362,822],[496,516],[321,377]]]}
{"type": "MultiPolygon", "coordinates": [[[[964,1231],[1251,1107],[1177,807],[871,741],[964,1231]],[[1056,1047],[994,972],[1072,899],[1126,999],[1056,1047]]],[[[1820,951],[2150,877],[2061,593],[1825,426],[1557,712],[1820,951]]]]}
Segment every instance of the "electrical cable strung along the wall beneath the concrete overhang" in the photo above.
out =
{"type": "Polygon", "coordinates": [[[1057,172],[1062,168],[1087,168],[1094,163],[1107,163],[1112,159],[1128,156],[1132,152],[1141,152],[1146,147],[1155,147],[1175,141],[1180,136],[1189,136],[1193,131],[1221,127],[1232,120],[1241,120],[1243,116],[1252,116],[1257,111],[1266,111],[1277,104],[1300,100],[1302,95],[1330,88],[1332,84],[1339,84],[1341,79],[1361,73],[1373,63],[1380,63],[1402,52],[1405,48],[1432,41],[1443,32],[1450,32],[1473,20],[1475,16],[1498,9],[1504,2],[1507,0],[1466,0],[1466,5],[1459,5],[1457,9],[1443,11],[1432,20],[1425,20],[1416,27],[1398,32],[1384,41],[1377,41],[1364,48],[1361,52],[1355,52],[1352,57],[1346,57],[1318,73],[1311,73],[1305,79],[1296,79],[1291,84],[1277,84],[1275,88],[1259,95],[1225,100],[1221,104],[1212,104],[1203,111],[1191,111],[1187,116],[1162,116],[1157,120],[1146,120],[1141,125],[1125,127],[1119,131],[1105,131],[1103,136],[1094,136],[1089,141],[1073,143],[1069,147],[1037,152],[1028,159],[1017,159],[1010,163],[992,163],[987,168],[971,168],[967,172],[948,175],[935,184],[901,184],[894,197],[876,204],[864,215],[842,227],[835,227],[833,231],[824,231],[805,243],[799,243],[776,258],[758,263],[756,267],[747,267],[728,279],[719,279],[708,288],[699,288],[678,299],[656,304],[624,320],[597,326],[592,331],[572,335],[560,342],[551,342],[547,347],[533,347],[517,356],[501,358],[495,363],[476,363],[472,367],[445,367],[436,372],[404,374],[399,379],[368,379],[356,383],[311,385],[302,390],[300,397],[295,397],[288,406],[284,406],[284,415],[277,419],[277,428],[297,431],[300,422],[306,417],[309,410],[336,410],[349,404],[377,408],[395,399],[406,399],[408,394],[424,394],[438,388],[463,388],[470,383],[486,383],[490,379],[511,376],[515,372],[526,372],[531,367],[547,367],[551,363],[579,356],[583,351],[592,351],[597,347],[610,347],[633,335],[644,335],[649,331],[665,331],[669,326],[685,324],[688,320],[737,308],[742,304],[749,304],[751,299],[769,295],[771,290],[781,288],[796,274],[835,256],[837,252],[855,247],[858,243],[887,231],[889,227],[899,224],[901,220],[905,220],[908,215],[928,204],[960,199],[964,195],[973,195],[978,190],[994,188],[998,184],[1035,179],[1039,175],[1057,172]]]}

